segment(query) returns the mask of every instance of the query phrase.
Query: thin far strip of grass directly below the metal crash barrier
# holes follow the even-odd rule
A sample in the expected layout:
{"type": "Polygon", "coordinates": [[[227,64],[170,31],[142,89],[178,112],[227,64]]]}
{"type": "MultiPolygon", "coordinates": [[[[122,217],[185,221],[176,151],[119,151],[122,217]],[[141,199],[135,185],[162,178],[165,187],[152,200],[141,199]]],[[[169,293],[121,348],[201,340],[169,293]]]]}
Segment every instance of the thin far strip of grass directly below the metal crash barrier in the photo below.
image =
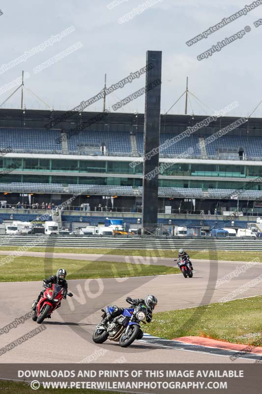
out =
{"type": "MultiPolygon", "coordinates": [[[[0,250],[18,250],[15,246],[1,246],[0,250]]],[[[54,253],[86,253],[102,255],[120,255],[120,256],[148,256],[148,257],[177,257],[177,249],[109,249],[109,248],[66,248],[66,247],[33,247],[31,252],[54,252],[54,253]]],[[[250,262],[255,258],[260,258],[262,262],[262,252],[238,252],[238,251],[196,251],[187,250],[192,259],[206,260],[226,260],[226,261],[243,261],[250,262]]]]}

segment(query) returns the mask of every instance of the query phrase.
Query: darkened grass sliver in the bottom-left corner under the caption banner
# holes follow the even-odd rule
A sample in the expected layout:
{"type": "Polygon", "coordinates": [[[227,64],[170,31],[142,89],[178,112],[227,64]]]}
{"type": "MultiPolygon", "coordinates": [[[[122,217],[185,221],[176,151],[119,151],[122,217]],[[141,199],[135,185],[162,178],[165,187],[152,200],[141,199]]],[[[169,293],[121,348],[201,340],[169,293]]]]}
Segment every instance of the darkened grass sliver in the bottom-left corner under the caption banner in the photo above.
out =
{"type": "MultiPolygon", "coordinates": [[[[100,391],[100,390],[86,390],[86,389],[43,389],[40,387],[38,390],[32,390],[27,383],[11,382],[7,380],[0,380],[0,389],[4,394],[121,394],[113,391],[100,391]]],[[[122,393],[123,394],[123,393],[122,393]]]]}

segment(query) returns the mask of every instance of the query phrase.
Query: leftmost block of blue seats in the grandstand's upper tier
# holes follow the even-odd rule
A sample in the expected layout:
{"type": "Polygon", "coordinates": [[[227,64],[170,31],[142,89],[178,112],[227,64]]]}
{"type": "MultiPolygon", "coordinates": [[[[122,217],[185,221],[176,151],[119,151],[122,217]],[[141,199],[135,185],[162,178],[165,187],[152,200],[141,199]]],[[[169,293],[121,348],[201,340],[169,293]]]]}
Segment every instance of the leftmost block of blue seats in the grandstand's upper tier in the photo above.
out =
{"type": "Polygon", "coordinates": [[[60,130],[0,128],[0,149],[13,152],[61,153],[60,130]]]}

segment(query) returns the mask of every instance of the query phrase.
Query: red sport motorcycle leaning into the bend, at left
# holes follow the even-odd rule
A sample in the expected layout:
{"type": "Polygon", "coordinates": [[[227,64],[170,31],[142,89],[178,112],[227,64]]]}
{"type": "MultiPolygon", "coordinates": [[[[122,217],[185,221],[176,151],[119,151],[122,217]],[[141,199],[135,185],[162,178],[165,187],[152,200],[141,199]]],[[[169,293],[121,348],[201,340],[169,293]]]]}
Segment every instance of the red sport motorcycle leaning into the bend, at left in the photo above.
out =
{"type": "MultiPolygon", "coordinates": [[[[61,306],[61,300],[63,297],[63,287],[60,285],[52,285],[51,287],[45,287],[43,297],[36,305],[32,320],[38,324],[42,323],[46,318],[51,318],[53,313],[59,306],[61,306]]],[[[67,296],[72,297],[72,293],[67,293],[67,296]]]]}

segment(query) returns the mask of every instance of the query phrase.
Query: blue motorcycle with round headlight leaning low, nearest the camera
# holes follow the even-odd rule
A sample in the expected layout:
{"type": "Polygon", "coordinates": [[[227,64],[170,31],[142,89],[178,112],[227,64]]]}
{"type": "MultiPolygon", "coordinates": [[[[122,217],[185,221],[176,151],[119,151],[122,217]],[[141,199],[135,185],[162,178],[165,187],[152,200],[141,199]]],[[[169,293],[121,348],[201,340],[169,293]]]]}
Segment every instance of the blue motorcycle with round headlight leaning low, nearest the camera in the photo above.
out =
{"type": "Polygon", "coordinates": [[[107,339],[119,341],[122,348],[130,346],[135,339],[143,338],[143,331],[140,327],[141,322],[146,324],[147,308],[144,304],[138,304],[133,308],[118,308],[108,305],[101,309],[102,318],[111,316],[112,319],[106,324],[100,323],[96,326],[92,339],[95,343],[103,343],[107,339]],[[116,316],[117,314],[117,316],[116,316]]]}

